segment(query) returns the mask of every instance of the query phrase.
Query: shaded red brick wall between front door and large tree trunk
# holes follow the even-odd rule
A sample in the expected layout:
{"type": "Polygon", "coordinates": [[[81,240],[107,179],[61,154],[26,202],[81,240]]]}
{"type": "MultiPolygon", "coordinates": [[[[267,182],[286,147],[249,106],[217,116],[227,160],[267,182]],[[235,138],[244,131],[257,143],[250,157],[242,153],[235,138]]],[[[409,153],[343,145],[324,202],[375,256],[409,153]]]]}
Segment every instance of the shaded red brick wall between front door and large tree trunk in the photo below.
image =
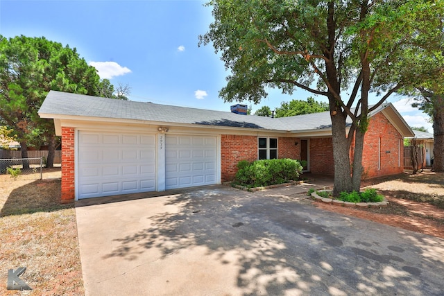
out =
{"type": "Polygon", "coordinates": [[[309,139],[309,155],[311,173],[334,175],[332,138],[309,139]]]}

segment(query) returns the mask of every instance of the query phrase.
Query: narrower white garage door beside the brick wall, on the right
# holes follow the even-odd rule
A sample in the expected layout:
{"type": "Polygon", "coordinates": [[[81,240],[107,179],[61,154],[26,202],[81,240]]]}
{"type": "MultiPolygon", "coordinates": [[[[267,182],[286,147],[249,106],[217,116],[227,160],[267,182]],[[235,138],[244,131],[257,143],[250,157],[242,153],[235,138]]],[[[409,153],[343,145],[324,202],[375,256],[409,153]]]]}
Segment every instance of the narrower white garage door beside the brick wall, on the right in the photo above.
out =
{"type": "Polygon", "coordinates": [[[167,134],[166,189],[216,184],[216,139],[167,134]]]}

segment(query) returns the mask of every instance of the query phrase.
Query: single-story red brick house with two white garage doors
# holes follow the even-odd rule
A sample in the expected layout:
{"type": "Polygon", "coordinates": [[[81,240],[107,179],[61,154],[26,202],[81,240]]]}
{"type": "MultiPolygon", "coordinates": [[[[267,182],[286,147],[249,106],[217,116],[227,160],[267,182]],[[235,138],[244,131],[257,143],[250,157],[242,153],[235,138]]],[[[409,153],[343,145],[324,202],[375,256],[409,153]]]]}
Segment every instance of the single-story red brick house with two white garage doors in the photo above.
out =
{"type": "MultiPolygon", "coordinates": [[[[334,172],[329,112],[268,118],[51,91],[39,114],[62,136],[62,201],[220,184],[243,159],[334,172]]],[[[401,173],[413,132],[391,103],[370,116],[364,175],[401,173]]]]}

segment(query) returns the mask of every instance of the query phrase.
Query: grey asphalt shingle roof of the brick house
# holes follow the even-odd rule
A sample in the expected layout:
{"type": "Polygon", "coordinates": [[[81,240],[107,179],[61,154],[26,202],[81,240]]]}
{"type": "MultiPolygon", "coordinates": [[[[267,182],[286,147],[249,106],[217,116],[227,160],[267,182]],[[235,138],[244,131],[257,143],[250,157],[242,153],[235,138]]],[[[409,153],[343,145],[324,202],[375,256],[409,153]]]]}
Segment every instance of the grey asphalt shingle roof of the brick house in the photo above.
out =
{"type": "MultiPolygon", "coordinates": [[[[373,114],[379,112],[380,108],[375,110],[373,114]]],[[[91,116],[108,119],[216,125],[280,131],[320,130],[331,128],[332,126],[329,112],[270,118],[155,103],[122,101],[56,91],[51,91],[46,96],[42,107],[40,107],[39,114],[54,117],[58,117],[58,115],[91,116]]]]}

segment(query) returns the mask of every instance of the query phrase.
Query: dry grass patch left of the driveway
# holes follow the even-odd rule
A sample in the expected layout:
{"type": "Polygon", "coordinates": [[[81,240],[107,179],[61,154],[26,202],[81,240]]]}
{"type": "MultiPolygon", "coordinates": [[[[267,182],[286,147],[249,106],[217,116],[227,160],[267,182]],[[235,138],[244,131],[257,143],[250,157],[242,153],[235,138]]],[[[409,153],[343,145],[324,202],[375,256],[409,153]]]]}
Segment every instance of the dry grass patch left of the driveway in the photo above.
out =
{"type": "Polygon", "coordinates": [[[0,175],[0,295],[84,295],[76,212],[60,204],[60,176],[0,175]],[[6,290],[8,270],[20,266],[33,290],[6,290]]]}

